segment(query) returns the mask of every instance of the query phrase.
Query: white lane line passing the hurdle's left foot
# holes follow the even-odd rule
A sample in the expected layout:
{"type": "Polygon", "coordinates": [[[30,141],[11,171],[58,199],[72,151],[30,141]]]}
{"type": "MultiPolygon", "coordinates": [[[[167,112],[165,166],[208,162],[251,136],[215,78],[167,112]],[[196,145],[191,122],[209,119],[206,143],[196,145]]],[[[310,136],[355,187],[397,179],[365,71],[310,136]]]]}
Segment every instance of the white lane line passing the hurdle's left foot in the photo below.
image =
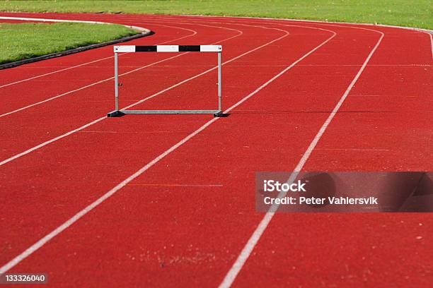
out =
{"type": "MultiPolygon", "coordinates": [[[[280,29],[276,29],[276,30],[280,30],[280,29]]],[[[280,30],[280,31],[284,31],[284,30],[280,30]]],[[[254,49],[251,49],[251,50],[249,50],[248,52],[245,52],[245,53],[243,53],[243,54],[241,54],[241,55],[238,55],[238,56],[236,56],[236,57],[234,57],[234,58],[232,58],[232,59],[230,59],[230,60],[228,60],[228,61],[225,61],[225,62],[224,62],[223,64],[221,64],[221,65],[224,65],[224,64],[230,63],[231,61],[234,61],[234,60],[236,60],[236,59],[238,59],[238,58],[241,58],[242,56],[245,56],[245,55],[247,55],[247,54],[250,54],[250,53],[252,53],[252,52],[255,52],[256,50],[258,50],[258,49],[260,49],[260,48],[262,48],[262,47],[265,47],[265,46],[267,46],[267,45],[269,45],[269,44],[272,44],[273,42],[276,42],[276,41],[278,41],[278,40],[280,40],[280,39],[282,39],[282,38],[284,38],[284,37],[287,37],[287,35],[289,35],[289,32],[287,32],[287,31],[284,31],[284,32],[286,32],[286,34],[282,35],[281,37],[278,37],[278,38],[275,39],[275,40],[272,40],[272,41],[270,41],[270,42],[267,42],[267,43],[265,43],[265,44],[262,44],[262,45],[260,45],[259,47],[255,47],[254,49]]],[[[226,41],[226,40],[230,40],[230,39],[232,39],[232,38],[234,38],[234,37],[238,37],[238,36],[240,36],[240,35],[234,35],[234,36],[232,36],[232,37],[226,38],[225,40],[221,40],[221,41],[219,41],[218,43],[224,42],[224,41],[226,41]]],[[[217,43],[217,42],[215,42],[215,43],[217,43]]],[[[214,43],[212,43],[212,44],[214,44],[214,43]]],[[[186,53],[189,53],[189,52],[186,52],[186,53]]],[[[180,55],[182,55],[182,54],[180,54],[180,55]]],[[[180,56],[180,55],[177,55],[177,56],[180,56]]],[[[214,70],[214,69],[216,69],[216,68],[218,68],[218,66],[214,66],[214,68],[210,68],[210,69],[208,69],[207,71],[204,71],[204,72],[202,72],[202,73],[200,73],[200,74],[197,74],[196,76],[192,76],[192,77],[187,78],[187,79],[185,79],[185,80],[183,80],[183,81],[180,81],[179,83],[176,83],[175,85],[172,85],[172,86],[170,86],[170,87],[168,87],[168,88],[166,88],[166,89],[164,89],[164,90],[161,90],[161,91],[159,91],[159,92],[156,92],[154,95],[151,95],[151,96],[146,97],[146,98],[144,98],[144,99],[142,99],[142,100],[139,100],[139,101],[137,101],[137,102],[134,102],[133,104],[130,104],[130,105],[128,105],[127,107],[124,107],[124,108],[122,108],[122,109],[127,109],[127,108],[133,107],[133,106],[135,106],[135,105],[137,105],[137,104],[140,104],[140,103],[142,103],[142,102],[144,102],[144,101],[146,101],[146,100],[149,100],[149,99],[151,99],[151,98],[153,98],[153,97],[156,97],[157,95],[162,94],[163,92],[166,92],[166,91],[168,91],[168,90],[171,90],[171,89],[173,89],[173,88],[176,88],[176,87],[178,87],[179,85],[182,85],[183,83],[186,83],[186,82],[188,82],[188,81],[190,81],[190,80],[192,80],[192,79],[195,79],[195,78],[200,77],[200,76],[202,76],[202,75],[204,75],[204,74],[206,74],[206,73],[209,73],[210,71],[212,71],[212,70],[214,70]]],[[[136,70],[137,70],[137,69],[136,69],[136,70]]],[[[131,72],[132,72],[132,71],[129,71],[129,72],[127,72],[127,73],[131,73],[131,72]]],[[[123,74],[122,74],[122,75],[123,75],[123,74]]],[[[24,155],[27,155],[27,154],[30,153],[30,152],[33,152],[33,151],[35,151],[35,150],[37,150],[37,149],[39,149],[39,148],[42,148],[42,147],[44,147],[44,146],[46,146],[46,145],[49,145],[50,143],[53,143],[53,142],[55,142],[55,141],[57,141],[57,140],[59,140],[59,139],[62,139],[62,138],[67,137],[67,136],[69,136],[69,135],[71,135],[71,134],[73,134],[73,133],[76,133],[76,132],[78,132],[78,131],[81,131],[81,130],[83,130],[84,128],[87,128],[88,126],[91,126],[91,125],[93,125],[93,124],[96,124],[96,123],[98,123],[99,121],[103,121],[104,119],[107,119],[107,117],[105,117],[105,116],[100,117],[99,119],[96,119],[96,120],[92,121],[91,123],[85,124],[85,125],[83,125],[83,126],[81,126],[81,127],[79,127],[79,128],[76,128],[76,129],[71,130],[71,131],[69,131],[69,132],[67,132],[67,133],[64,133],[64,134],[62,134],[62,135],[60,135],[60,136],[57,136],[57,137],[52,138],[52,139],[50,139],[50,140],[47,140],[47,141],[45,141],[45,142],[43,142],[43,143],[40,143],[39,145],[36,145],[36,146],[34,146],[33,148],[30,148],[30,149],[28,149],[28,150],[25,150],[25,151],[23,151],[23,152],[21,152],[21,153],[18,153],[18,154],[16,154],[16,155],[13,155],[12,157],[9,157],[9,158],[7,158],[7,159],[1,161],[1,162],[0,162],[0,166],[6,164],[6,163],[8,163],[8,162],[11,162],[11,161],[13,161],[13,160],[16,160],[16,159],[18,159],[19,157],[23,157],[24,155]]]]}

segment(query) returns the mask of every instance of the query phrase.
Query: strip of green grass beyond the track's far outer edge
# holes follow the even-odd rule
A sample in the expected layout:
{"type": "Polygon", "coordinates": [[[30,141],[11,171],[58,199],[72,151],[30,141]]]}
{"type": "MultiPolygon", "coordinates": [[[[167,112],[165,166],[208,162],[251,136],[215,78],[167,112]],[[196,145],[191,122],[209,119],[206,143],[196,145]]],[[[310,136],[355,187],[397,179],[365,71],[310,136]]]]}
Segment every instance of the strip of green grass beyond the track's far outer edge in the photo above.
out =
{"type": "Polygon", "coordinates": [[[432,0],[0,1],[0,11],[253,16],[433,28],[432,0]]]}

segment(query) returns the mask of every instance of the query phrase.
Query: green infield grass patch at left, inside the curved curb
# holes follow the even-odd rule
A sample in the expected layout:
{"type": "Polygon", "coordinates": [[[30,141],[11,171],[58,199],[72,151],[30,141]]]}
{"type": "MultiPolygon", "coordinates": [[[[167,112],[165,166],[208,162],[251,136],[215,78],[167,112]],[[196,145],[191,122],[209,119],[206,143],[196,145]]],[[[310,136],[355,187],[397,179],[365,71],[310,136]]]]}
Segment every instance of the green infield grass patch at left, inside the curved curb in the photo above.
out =
{"type": "Polygon", "coordinates": [[[134,34],[137,34],[137,31],[122,25],[0,23],[0,64],[106,42],[134,34]]]}

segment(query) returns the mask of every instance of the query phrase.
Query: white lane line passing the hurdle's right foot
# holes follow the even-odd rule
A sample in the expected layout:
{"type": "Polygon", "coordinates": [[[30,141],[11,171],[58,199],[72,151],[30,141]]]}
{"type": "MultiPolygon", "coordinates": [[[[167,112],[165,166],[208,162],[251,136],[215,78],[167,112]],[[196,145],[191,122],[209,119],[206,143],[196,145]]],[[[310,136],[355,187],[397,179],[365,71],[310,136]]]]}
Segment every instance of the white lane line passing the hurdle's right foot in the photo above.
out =
{"type": "MultiPolygon", "coordinates": [[[[287,35],[288,34],[283,35],[282,37],[279,37],[277,39],[281,39],[283,37],[286,37],[287,35]]],[[[330,41],[331,39],[333,39],[333,37],[335,37],[335,35],[336,34],[334,32],[334,34],[331,37],[329,37],[327,40],[325,40],[324,42],[322,42],[321,44],[319,44],[317,47],[315,47],[314,49],[312,49],[310,52],[304,54],[304,56],[302,56],[298,60],[294,61],[290,66],[288,66],[287,68],[285,68],[283,71],[279,72],[276,76],[270,78],[270,80],[267,80],[266,83],[262,84],[259,88],[257,88],[253,92],[251,92],[246,97],[243,97],[242,100],[240,100],[236,104],[233,104],[229,109],[226,109],[224,111],[224,113],[230,112],[232,109],[238,107],[238,105],[240,105],[243,102],[245,102],[246,100],[248,100],[250,97],[252,97],[253,95],[255,95],[257,92],[259,92],[260,90],[262,90],[263,88],[265,88],[268,84],[272,83],[272,81],[274,81],[275,79],[277,79],[279,76],[282,76],[283,73],[285,73],[290,68],[292,68],[293,66],[295,66],[299,61],[302,61],[308,55],[310,55],[311,53],[315,52],[317,49],[319,49],[320,47],[322,47],[325,43],[327,43],[328,41],[330,41]]],[[[275,41],[277,41],[277,40],[272,40],[271,42],[275,42],[275,41]]],[[[268,43],[270,43],[270,42],[268,42],[268,43]]],[[[267,45],[267,44],[264,44],[264,45],[267,45]]],[[[256,48],[256,49],[258,49],[258,48],[256,48]]],[[[231,61],[233,61],[233,59],[231,61]]],[[[74,222],[78,221],[81,217],[83,217],[88,212],[90,212],[91,210],[93,210],[94,208],[96,208],[98,205],[100,205],[100,203],[103,203],[103,201],[105,201],[106,199],[110,198],[110,196],[112,196],[114,193],[116,193],[117,191],[119,191],[121,188],[123,188],[124,186],[126,186],[127,184],[129,184],[129,182],[131,182],[132,180],[134,180],[135,178],[137,178],[139,175],[143,174],[147,169],[149,169],[150,167],[154,166],[154,164],[156,164],[157,162],[161,161],[167,155],[171,154],[171,152],[173,152],[174,150],[178,149],[181,145],[183,145],[184,143],[186,143],[192,137],[196,136],[198,133],[202,132],[205,128],[207,128],[209,125],[211,125],[212,123],[214,123],[218,119],[220,119],[220,118],[212,118],[211,120],[207,121],[207,123],[205,123],[203,126],[201,126],[200,128],[198,128],[196,131],[190,133],[190,135],[186,136],[185,138],[183,138],[182,140],[180,140],[178,143],[176,143],[175,145],[171,146],[171,148],[168,148],[168,150],[166,150],[165,152],[163,152],[161,155],[158,155],[158,157],[154,158],[154,160],[152,160],[151,162],[149,162],[148,164],[146,164],[144,167],[142,167],[141,169],[139,169],[137,172],[135,172],[131,176],[127,177],[127,179],[125,179],[124,181],[120,182],[120,184],[117,184],[110,191],[108,191],[103,196],[101,196],[100,198],[98,198],[98,200],[94,201],[93,203],[91,203],[90,205],[88,205],[86,208],[84,208],[80,212],[76,213],[76,215],[74,215],[73,217],[71,217],[69,220],[67,220],[66,222],[64,222],[62,225],[60,225],[59,227],[57,227],[56,229],[54,229],[49,234],[47,234],[44,237],[42,237],[42,239],[40,239],[39,241],[37,241],[35,244],[33,244],[32,246],[30,246],[29,248],[25,249],[25,251],[23,251],[21,254],[19,254],[18,256],[16,256],[12,260],[10,260],[8,263],[6,263],[5,265],[3,265],[0,268],[0,274],[3,274],[5,272],[7,272],[11,268],[13,268],[15,265],[17,265],[18,263],[20,263],[22,260],[24,260],[25,258],[27,258],[28,256],[30,256],[30,254],[32,254],[33,252],[37,251],[37,249],[41,248],[48,241],[50,241],[55,236],[57,236],[58,234],[60,234],[61,232],[63,232],[64,229],[67,229],[69,226],[71,226],[71,224],[74,224],[74,222]]]]}

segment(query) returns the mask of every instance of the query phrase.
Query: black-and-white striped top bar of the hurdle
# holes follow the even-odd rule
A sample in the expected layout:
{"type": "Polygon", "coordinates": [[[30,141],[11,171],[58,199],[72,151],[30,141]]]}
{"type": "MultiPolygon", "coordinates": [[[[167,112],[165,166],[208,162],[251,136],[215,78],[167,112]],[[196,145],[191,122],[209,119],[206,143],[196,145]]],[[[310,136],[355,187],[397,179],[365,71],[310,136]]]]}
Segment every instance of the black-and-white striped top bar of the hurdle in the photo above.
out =
{"type": "Polygon", "coordinates": [[[115,46],[114,52],[222,52],[221,45],[115,46]]]}

